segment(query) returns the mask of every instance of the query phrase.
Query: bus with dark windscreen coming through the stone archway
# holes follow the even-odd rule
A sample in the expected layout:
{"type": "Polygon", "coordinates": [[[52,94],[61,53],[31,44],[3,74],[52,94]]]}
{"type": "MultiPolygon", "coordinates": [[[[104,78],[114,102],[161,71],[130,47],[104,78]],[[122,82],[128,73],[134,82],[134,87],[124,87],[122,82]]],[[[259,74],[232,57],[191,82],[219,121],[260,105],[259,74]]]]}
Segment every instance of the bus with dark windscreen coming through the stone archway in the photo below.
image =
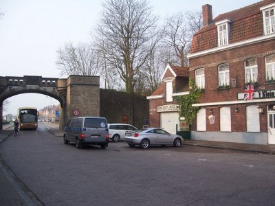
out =
{"type": "Polygon", "coordinates": [[[38,126],[39,113],[36,107],[24,106],[18,109],[17,119],[19,121],[19,129],[36,130],[38,126]]]}

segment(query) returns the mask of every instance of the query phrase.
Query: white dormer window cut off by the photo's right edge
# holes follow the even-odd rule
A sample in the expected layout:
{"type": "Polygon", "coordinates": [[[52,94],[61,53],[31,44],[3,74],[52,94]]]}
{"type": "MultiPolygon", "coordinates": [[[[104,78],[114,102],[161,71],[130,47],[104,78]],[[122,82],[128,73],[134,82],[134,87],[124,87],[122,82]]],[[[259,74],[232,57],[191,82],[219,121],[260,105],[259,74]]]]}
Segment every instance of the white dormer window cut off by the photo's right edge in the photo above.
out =
{"type": "Polygon", "coordinates": [[[275,33],[275,3],[266,5],[261,8],[263,12],[263,26],[265,35],[275,33]]]}

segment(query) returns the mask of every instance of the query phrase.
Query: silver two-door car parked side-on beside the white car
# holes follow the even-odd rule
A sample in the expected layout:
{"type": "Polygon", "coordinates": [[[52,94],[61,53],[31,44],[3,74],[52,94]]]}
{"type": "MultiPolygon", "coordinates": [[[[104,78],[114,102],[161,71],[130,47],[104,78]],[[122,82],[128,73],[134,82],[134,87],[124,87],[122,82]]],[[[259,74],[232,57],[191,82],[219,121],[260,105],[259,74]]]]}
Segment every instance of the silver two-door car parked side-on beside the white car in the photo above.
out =
{"type": "Polygon", "coordinates": [[[178,147],[184,139],[179,135],[167,133],[161,128],[143,128],[133,132],[126,132],[124,142],[134,147],[140,145],[142,148],[148,148],[153,145],[171,145],[178,147]]]}

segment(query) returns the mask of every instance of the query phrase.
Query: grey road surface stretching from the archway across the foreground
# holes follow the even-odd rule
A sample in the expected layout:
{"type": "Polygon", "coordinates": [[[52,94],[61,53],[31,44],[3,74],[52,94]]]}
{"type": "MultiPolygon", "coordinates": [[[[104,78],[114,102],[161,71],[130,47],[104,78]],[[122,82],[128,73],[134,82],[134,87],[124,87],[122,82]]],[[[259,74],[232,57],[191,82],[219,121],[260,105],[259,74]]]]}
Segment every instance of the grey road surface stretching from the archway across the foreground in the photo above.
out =
{"type": "Polygon", "coordinates": [[[77,149],[42,125],[0,151],[45,205],[275,205],[274,155],[124,142],[77,149]]]}

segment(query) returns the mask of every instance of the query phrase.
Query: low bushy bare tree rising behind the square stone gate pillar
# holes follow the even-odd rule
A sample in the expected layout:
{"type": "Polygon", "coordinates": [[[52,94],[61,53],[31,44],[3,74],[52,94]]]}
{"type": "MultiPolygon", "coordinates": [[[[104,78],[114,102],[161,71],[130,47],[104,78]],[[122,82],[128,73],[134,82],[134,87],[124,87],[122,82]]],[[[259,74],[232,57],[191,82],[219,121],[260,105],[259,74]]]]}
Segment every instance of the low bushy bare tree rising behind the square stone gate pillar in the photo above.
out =
{"type": "Polygon", "coordinates": [[[91,45],[67,43],[57,50],[56,65],[63,75],[96,76],[100,69],[100,58],[91,45]]]}

